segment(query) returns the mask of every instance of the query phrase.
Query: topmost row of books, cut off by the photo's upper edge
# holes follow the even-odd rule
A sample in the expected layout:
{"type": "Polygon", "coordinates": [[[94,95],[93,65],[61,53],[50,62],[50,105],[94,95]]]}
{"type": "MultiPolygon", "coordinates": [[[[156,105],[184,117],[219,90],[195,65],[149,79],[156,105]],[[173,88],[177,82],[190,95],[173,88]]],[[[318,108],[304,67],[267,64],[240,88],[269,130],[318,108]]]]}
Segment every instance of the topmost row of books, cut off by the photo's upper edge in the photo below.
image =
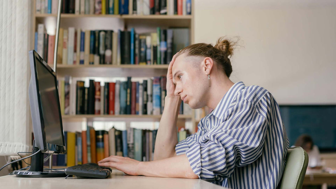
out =
{"type": "MultiPolygon", "coordinates": [[[[191,0],[62,0],[61,13],[190,15],[191,0]]],[[[36,0],[37,14],[57,14],[58,0],[36,0]]]]}

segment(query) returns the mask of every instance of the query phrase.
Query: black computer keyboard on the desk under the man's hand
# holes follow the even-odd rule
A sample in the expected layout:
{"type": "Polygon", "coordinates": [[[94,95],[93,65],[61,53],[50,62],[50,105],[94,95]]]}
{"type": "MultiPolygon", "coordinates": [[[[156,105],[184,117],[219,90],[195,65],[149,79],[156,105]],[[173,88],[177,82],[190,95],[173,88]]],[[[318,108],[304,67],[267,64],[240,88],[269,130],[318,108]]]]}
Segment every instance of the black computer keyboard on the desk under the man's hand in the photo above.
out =
{"type": "Polygon", "coordinates": [[[112,169],[109,167],[100,167],[96,163],[86,163],[68,167],[64,171],[67,175],[105,179],[111,174],[112,169]]]}

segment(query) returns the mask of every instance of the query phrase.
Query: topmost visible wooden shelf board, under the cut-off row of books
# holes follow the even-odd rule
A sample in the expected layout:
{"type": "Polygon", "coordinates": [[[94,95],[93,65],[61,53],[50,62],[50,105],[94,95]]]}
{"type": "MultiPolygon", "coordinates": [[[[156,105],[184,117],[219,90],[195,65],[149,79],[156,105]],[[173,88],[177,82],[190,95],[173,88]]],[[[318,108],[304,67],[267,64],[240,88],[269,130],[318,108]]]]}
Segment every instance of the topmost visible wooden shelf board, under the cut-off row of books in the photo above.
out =
{"type": "MultiPolygon", "coordinates": [[[[56,14],[35,14],[36,18],[56,17],[56,14]]],[[[136,14],[61,14],[61,18],[125,18],[125,19],[192,19],[192,15],[136,15],[136,14]]]]}

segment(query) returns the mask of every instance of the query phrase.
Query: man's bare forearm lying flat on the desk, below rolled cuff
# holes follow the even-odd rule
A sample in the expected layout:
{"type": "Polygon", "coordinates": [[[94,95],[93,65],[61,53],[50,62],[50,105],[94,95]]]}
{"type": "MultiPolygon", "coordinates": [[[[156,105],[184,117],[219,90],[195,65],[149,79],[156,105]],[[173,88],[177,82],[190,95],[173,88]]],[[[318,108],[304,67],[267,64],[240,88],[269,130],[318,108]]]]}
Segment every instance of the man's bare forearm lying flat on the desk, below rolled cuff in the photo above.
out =
{"type": "Polygon", "coordinates": [[[137,174],[149,177],[198,179],[185,154],[166,159],[140,162],[137,174]]]}

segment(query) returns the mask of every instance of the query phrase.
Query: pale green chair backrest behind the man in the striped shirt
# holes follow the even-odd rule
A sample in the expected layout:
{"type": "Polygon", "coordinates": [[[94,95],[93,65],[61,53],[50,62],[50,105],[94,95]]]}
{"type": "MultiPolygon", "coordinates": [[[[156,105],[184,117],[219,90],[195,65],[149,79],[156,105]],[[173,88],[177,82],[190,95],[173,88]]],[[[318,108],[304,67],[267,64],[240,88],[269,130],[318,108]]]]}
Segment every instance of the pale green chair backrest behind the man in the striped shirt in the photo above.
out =
{"type": "Polygon", "coordinates": [[[288,148],[286,166],[278,188],[302,188],[307,166],[308,154],[304,149],[301,147],[288,148]]]}

